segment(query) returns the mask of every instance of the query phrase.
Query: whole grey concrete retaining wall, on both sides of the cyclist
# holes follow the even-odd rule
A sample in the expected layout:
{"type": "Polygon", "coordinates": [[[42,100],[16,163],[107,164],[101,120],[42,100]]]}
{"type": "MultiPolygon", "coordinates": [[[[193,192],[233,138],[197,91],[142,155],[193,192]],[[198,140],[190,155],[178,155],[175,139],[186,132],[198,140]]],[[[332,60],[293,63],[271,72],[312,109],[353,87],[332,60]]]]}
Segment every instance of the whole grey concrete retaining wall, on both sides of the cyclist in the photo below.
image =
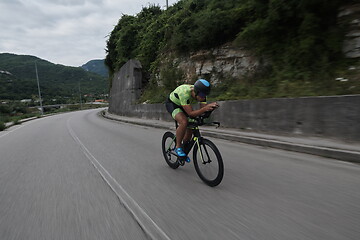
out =
{"type": "MultiPolygon", "coordinates": [[[[172,121],[164,104],[134,104],[141,65],[128,62],[113,79],[109,112],[172,121]]],[[[223,127],[284,135],[360,141],[360,95],[219,102],[214,119],[223,127]]]]}

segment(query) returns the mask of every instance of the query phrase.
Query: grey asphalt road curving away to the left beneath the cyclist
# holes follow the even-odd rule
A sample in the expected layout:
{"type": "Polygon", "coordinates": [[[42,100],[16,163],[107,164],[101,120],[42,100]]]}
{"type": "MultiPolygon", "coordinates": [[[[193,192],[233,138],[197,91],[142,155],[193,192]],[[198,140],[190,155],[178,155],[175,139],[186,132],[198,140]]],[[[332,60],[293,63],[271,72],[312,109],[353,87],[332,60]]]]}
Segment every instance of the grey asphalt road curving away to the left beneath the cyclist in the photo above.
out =
{"type": "Polygon", "coordinates": [[[360,239],[359,165],[211,139],[211,188],[166,165],[164,130],[98,111],[0,132],[0,239],[360,239]]]}

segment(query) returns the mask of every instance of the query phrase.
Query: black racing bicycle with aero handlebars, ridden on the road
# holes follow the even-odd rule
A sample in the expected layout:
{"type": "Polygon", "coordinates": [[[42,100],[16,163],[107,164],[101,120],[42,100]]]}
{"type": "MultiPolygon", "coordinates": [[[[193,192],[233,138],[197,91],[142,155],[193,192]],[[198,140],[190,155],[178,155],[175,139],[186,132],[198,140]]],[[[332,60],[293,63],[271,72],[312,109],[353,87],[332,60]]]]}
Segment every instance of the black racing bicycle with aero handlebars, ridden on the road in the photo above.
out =
{"type": "MultiPolygon", "coordinates": [[[[184,144],[183,149],[186,155],[193,149],[193,162],[196,173],[200,179],[211,187],[215,187],[221,183],[224,176],[224,163],[220,151],[216,145],[209,139],[201,136],[199,126],[216,125],[219,122],[206,123],[206,119],[210,117],[211,112],[207,112],[202,116],[191,118],[188,128],[193,131],[192,139],[189,143],[184,144]]],[[[176,128],[178,127],[175,121],[176,128]]],[[[167,131],[162,137],[162,152],[166,163],[173,169],[184,166],[186,157],[178,157],[174,152],[176,147],[176,136],[174,133],[167,131]]]]}

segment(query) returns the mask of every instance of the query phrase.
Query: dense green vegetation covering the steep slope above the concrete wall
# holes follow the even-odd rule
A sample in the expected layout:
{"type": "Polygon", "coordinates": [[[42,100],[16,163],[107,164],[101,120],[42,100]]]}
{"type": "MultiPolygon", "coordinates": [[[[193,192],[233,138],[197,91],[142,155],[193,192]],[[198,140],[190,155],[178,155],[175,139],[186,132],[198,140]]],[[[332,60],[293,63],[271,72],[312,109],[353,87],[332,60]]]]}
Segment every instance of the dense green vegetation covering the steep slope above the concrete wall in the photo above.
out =
{"type": "Polygon", "coordinates": [[[167,10],[149,5],[119,19],[105,63],[112,79],[129,59],[140,60],[148,80],[140,101],[162,102],[184,81],[174,58],[231,43],[268,64],[254,76],[221,76],[212,99],[359,94],[359,60],[344,58],[346,29],[338,21],[340,7],[355,2],[180,0],[167,10]]]}

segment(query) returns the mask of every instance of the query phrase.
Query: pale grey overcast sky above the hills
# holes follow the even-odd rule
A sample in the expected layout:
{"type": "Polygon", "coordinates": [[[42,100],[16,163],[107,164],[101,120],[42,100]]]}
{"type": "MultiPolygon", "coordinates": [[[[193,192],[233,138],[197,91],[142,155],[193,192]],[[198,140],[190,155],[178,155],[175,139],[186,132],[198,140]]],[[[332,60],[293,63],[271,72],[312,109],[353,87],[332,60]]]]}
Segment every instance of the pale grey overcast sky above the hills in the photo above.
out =
{"type": "Polygon", "coordinates": [[[121,16],[149,4],[165,8],[166,0],[0,0],[0,53],[75,67],[104,59],[121,16]]]}

